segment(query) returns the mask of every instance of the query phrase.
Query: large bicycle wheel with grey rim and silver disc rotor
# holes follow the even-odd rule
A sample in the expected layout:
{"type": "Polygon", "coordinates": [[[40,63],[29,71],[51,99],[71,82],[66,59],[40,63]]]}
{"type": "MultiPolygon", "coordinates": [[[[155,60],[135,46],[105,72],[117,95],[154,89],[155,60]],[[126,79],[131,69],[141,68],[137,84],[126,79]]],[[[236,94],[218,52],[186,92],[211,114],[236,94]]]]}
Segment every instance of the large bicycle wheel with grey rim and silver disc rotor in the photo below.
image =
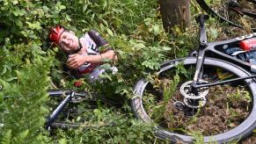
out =
{"type": "MultiPolygon", "coordinates": [[[[256,126],[256,83],[252,79],[190,92],[196,59],[167,61],[154,78],[135,84],[131,106],[138,119],[156,123],[156,135],[172,142],[241,140],[256,126]],[[202,139],[203,138],[203,139],[202,139]]],[[[206,58],[201,83],[250,74],[227,61],[206,58]]]]}

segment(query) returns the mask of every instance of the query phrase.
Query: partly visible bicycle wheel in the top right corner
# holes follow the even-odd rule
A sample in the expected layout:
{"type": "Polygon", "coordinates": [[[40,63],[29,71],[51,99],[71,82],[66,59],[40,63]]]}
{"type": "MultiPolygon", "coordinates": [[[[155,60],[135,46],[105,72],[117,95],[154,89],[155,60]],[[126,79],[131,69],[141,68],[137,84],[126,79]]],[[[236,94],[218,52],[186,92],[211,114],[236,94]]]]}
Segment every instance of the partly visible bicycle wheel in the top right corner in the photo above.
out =
{"type": "Polygon", "coordinates": [[[256,31],[255,0],[196,0],[204,11],[222,22],[256,31]]]}

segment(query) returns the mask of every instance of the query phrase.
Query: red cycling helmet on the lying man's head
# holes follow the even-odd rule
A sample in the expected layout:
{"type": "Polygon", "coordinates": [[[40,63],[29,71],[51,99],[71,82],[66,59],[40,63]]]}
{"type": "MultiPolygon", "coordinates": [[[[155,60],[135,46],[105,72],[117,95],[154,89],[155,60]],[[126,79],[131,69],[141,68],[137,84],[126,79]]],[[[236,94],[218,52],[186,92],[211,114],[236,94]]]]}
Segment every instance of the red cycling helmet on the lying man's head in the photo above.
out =
{"type": "Polygon", "coordinates": [[[56,27],[51,28],[49,32],[49,41],[58,43],[62,35],[62,32],[64,31],[65,28],[63,28],[61,25],[56,25],[56,27]]]}

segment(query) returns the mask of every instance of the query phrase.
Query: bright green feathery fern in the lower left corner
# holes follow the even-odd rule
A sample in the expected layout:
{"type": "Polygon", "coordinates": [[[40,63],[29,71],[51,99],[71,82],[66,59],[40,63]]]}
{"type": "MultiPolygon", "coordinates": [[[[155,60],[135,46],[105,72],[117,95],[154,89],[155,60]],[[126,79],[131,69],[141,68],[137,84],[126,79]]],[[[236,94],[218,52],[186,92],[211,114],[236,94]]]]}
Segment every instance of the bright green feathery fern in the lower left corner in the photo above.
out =
{"type": "Polygon", "coordinates": [[[10,82],[1,79],[4,89],[0,93],[0,137],[9,143],[43,142],[45,116],[48,113],[47,100],[48,68],[50,57],[37,56],[26,61],[24,68],[15,71],[10,82]],[[40,86],[39,86],[40,85],[40,86]]]}

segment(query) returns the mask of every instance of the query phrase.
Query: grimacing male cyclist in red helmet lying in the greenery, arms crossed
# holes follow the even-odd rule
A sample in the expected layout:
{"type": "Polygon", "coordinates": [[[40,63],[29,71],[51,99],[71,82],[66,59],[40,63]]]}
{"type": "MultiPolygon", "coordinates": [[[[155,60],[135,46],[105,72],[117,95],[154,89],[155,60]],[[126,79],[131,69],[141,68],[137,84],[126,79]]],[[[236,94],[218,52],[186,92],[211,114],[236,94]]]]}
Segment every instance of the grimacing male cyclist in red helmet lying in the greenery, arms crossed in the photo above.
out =
{"type": "MultiPolygon", "coordinates": [[[[91,82],[105,72],[105,69],[100,68],[104,61],[117,61],[113,48],[94,30],[84,33],[78,39],[74,32],[56,25],[50,29],[49,40],[69,54],[66,64],[75,71],[75,76],[88,74],[91,82]],[[99,50],[99,47],[104,49],[99,50]]],[[[112,70],[116,72],[117,68],[113,67],[112,70]]]]}

